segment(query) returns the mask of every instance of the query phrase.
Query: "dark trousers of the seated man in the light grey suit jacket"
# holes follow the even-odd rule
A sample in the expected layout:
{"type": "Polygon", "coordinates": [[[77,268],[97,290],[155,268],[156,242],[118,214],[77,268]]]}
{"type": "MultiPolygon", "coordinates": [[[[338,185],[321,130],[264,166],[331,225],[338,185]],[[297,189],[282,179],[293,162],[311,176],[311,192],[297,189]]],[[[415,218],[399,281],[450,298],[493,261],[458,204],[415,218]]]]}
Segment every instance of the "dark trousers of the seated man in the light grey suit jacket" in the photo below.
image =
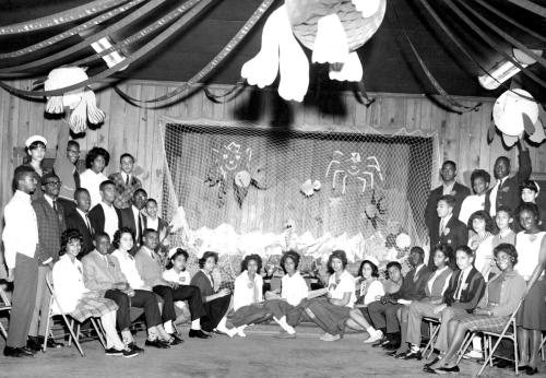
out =
{"type": "Polygon", "coordinates": [[[116,311],[116,322],[122,331],[131,326],[130,307],[144,309],[147,327],[155,327],[162,323],[162,314],[155,294],[146,291],[134,291],[134,296],[129,297],[119,290],[106,291],[105,298],[114,300],[118,305],[116,311]]]}

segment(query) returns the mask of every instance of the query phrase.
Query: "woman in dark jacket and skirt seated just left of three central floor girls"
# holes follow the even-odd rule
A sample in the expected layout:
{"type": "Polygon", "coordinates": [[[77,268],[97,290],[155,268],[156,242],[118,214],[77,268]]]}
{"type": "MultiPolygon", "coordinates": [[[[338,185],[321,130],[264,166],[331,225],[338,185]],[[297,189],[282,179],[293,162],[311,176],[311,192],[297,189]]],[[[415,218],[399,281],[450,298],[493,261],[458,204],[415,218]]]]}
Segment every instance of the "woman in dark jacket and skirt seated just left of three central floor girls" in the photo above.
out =
{"type": "Polygon", "coordinates": [[[226,327],[226,315],[232,302],[232,291],[221,288],[216,291],[213,270],[218,263],[218,253],[206,251],[199,259],[200,271],[193,275],[190,285],[199,287],[203,302],[201,327],[203,331],[229,334],[226,327]]]}

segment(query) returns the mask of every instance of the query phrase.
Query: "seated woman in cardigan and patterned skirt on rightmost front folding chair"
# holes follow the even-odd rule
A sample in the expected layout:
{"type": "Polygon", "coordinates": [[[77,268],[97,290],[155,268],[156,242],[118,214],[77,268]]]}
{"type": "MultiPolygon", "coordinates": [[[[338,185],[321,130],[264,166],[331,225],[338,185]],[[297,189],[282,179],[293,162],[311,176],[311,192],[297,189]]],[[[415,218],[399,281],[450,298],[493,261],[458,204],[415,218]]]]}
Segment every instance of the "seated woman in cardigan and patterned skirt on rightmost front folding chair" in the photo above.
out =
{"type": "Polygon", "coordinates": [[[456,355],[466,332],[502,332],[510,316],[525,295],[525,280],[514,271],[518,252],[514,246],[501,244],[494,250],[500,273],[492,277],[473,314],[455,316],[448,324],[449,347],[442,359],[425,366],[427,373],[459,373],[456,355]]]}

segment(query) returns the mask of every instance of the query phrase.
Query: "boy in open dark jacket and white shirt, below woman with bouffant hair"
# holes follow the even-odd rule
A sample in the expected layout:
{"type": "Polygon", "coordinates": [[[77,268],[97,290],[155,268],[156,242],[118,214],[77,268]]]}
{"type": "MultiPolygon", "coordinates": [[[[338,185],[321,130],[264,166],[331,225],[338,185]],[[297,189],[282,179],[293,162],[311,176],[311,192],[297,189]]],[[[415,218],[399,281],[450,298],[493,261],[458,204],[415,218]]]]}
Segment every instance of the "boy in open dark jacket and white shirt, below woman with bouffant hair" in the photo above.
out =
{"type": "Polygon", "coordinates": [[[99,191],[102,201],[91,209],[88,217],[95,233],[106,233],[111,240],[121,228],[121,212],[114,206],[116,185],[110,180],[103,181],[99,191]]]}

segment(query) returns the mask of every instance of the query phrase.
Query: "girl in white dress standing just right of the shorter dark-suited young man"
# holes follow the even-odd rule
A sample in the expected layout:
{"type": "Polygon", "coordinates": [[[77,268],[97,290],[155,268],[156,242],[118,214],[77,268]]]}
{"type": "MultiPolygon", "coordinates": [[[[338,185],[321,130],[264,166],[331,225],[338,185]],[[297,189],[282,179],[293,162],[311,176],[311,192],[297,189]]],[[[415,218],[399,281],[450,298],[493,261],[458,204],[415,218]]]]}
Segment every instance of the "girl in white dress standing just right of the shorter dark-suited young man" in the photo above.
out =
{"type": "Polygon", "coordinates": [[[487,282],[492,264],[492,239],[495,224],[491,216],[485,211],[474,212],[468,220],[468,228],[474,231],[468,239],[468,247],[474,252],[474,268],[484,276],[487,282]]]}

